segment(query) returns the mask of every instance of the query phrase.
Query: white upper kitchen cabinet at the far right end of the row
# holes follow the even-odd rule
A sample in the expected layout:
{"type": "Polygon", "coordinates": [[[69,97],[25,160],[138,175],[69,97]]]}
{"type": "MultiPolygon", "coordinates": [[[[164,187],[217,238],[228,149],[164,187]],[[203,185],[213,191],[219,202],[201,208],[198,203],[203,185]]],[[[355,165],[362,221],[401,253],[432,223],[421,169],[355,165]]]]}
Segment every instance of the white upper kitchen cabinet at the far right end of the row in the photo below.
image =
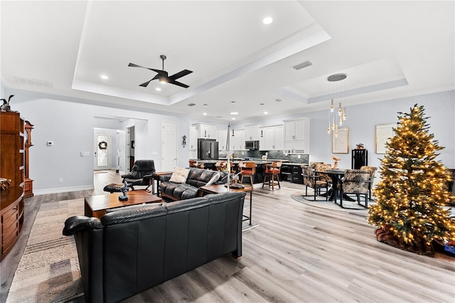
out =
{"type": "Polygon", "coordinates": [[[284,121],[284,150],[309,154],[310,121],[307,118],[284,121]]]}

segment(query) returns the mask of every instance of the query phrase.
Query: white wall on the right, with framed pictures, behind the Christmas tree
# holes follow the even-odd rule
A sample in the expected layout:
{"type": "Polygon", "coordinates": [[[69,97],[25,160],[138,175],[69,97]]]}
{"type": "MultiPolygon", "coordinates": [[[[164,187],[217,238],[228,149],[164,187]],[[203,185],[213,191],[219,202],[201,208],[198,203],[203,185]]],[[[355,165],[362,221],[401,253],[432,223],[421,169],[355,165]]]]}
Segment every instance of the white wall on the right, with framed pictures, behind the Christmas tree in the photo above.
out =
{"type": "MultiPolygon", "coordinates": [[[[341,161],[338,167],[347,169],[351,167],[351,150],[355,144],[363,143],[368,149],[368,165],[380,166],[383,154],[376,154],[375,127],[377,124],[391,124],[398,122],[398,112],[410,112],[415,104],[424,106],[424,113],[429,119],[429,132],[434,134],[434,139],[445,149],[439,151],[437,160],[449,168],[455,168],[455,91],[437,92],[415,97],[405,97],[384,102],[369,103],[346,107],[348,119],[343,127],[349,128],[348,154],[336,154],[341,161]]],[[[331,135],[327,134],[328,109],[318,112],[309,112],[304,115],[288,115],[286,117],[272,117],[246,123],[233,125],[242,129],[247,124],[262,126],[283,124],[284,119],[309,117],[310,122],[310,161],[323,161],[333,163],[331,152],[331,135]]]]}

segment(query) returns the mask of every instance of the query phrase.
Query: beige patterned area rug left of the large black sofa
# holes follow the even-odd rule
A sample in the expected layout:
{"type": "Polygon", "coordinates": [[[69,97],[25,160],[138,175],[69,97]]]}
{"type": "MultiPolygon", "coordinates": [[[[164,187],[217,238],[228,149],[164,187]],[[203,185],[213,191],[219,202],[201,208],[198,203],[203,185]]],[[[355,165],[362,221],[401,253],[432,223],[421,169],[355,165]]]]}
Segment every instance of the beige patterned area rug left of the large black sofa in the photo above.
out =
{"type": "Polygon", "coordinates": [[[62,230],[67,218],[83,213],[83,199],[41,204],[7,303],[65,302],[82,295],[74,237],[62,235],[62,230]]]}

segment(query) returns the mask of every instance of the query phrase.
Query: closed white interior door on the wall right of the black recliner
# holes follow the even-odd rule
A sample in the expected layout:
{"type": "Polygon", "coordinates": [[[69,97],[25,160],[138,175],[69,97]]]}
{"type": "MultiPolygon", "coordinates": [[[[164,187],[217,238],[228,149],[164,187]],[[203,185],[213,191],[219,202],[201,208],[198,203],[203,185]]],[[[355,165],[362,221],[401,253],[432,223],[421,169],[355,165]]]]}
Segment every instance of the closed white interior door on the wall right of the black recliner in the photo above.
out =
{"type": "Polygon", "coordinates": [[[173,171],[177,166],[177,124],[163,122],[162,126],[161,171],[173,171]]]}

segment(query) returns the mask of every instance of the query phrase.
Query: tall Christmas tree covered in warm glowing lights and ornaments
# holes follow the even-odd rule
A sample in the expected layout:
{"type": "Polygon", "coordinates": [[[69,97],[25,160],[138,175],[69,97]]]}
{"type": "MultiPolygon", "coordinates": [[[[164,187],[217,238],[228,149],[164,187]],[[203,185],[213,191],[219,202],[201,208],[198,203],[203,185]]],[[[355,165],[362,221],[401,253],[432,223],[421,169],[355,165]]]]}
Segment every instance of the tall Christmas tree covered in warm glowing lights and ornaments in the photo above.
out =
{"type": "Polygon", "coordinates": [[[455,199],[446,188],[451,176],[436,160],[444,147],[429,134],[423,106],[399,114],[395,136],[381,160],[381,181],[368,221],[379,227],[378,241],[434,255],[435,243],[455,240],[455,218],[443,207],[455,199]]]}

